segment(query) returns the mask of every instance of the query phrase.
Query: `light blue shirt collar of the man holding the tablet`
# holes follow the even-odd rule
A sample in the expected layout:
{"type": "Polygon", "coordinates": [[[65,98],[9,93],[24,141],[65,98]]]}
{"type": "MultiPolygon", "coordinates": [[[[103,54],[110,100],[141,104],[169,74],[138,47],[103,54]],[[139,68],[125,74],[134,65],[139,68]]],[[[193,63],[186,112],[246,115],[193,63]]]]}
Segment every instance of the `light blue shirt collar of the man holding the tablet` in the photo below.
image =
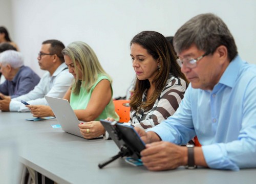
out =
{"type": "Polygon", "coordinates": [[[225,72],[221,76],[219,83],[233,87],[238,78],[239,71],[243,63],[244,61],[240,58],[240,56],[236,56],[227,66],[225,72]]]}

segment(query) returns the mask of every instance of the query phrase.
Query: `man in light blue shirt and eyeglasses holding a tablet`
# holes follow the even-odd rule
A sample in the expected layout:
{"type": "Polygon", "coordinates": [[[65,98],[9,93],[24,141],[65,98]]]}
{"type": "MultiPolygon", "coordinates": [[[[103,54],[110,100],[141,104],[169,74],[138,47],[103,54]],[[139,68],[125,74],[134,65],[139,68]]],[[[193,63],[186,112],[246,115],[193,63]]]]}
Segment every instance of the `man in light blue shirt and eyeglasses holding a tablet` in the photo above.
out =
{"type": "Polygon", "coordinates": [[[210,13],[188,20],[174,47],[190,84],[172,117],[147,132],[136,128],[147,143],[144,166],[255,168],[256,66],[240,58],[227,26],[210,13]],[[202,147],[186,145],[196,135],[202,147]]]}

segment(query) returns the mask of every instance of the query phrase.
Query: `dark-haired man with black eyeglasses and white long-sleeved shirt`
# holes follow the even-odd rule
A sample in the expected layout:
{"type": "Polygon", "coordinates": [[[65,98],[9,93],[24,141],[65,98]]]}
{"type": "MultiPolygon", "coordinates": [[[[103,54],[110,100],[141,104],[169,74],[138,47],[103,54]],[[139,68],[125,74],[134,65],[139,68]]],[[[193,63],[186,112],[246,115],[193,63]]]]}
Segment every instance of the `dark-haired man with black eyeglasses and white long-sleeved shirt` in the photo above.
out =
{"type": "Polygon", "coordinates": [[[58,40],[46,40],[42,42],[37,60],[41,70],[48,71],[42,76],[35,88],[26,95],[17,98],[7,98],[0,101],[0,110],[3,111],[29,111],[20,101],[26,101],[31,105],[48,105],[44,96],[62,98],[70,87],[73,76],[69,73],[61,51],[65,45],[58,40]]]}

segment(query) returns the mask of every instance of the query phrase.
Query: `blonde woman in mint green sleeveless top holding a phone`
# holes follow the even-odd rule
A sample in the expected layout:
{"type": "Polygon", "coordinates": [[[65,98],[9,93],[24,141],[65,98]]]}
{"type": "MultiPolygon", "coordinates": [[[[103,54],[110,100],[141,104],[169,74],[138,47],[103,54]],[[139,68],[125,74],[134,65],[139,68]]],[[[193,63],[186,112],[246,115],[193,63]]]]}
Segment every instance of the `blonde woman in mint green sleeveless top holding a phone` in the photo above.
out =
{"type": "MultiPolygon", "coordinates": [[[[74,76],[74,82],[63,99],[70,102],[78,120],[90,122],[115,117],[118,121],[112,100],[112,79],[103,70],[91,47],[82,41],[75,41],[63,49],[62,54],[69,72],[74,76]]],[[[38,111],[40,114],[32,112],[33,116],[54,116],[49,106],[40,105],[38,111]]]]}

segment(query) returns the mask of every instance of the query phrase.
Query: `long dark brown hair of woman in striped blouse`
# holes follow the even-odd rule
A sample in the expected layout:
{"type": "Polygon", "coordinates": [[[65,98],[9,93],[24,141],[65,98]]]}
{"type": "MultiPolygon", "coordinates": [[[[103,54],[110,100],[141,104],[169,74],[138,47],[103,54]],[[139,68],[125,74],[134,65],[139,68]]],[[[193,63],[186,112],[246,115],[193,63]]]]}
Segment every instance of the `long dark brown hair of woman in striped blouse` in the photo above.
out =
{"type": "Polygon", "coordinates": [[[145,103],[143,103],[141,99],[145,89],[150,87],[150,82],[148,79],[136,79],[135,81],[134,91],[130,102],[131,109],[136,111],[144,109],[147,111],[154,106],[154,103],[160,96],[164,86],[166,85],[169,73],[182,78],[186,82],[188,81],[176,62],[177,55],[174,51],[173,45],[171,45],[162,34],[155,31],[143,31],[134,36],[130,45],[133,43],[137,43],[146,49],[147,53],[152,55],[154,59],[159,59],[161,66],[160,70],[157,70],[157,75],[152,81],[155,85],[155,90],[152,96],[147,99],[145,103]]]}

